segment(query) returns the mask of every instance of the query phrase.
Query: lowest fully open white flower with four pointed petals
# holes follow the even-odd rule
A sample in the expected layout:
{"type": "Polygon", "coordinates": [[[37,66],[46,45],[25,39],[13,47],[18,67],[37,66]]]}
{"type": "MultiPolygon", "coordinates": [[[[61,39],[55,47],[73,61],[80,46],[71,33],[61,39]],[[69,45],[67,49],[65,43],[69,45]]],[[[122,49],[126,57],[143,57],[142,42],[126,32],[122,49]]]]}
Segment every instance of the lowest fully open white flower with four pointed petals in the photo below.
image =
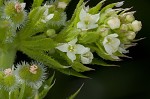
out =
{"type": "Polygon", "coordinates": [[[76,59],[75,54],[83,54],[88,52],[88,48],[84,47],[83,45],[76,44],[77,38],[73,39],[68,43],[63,43],[62,45],[56,47],[58,50],[62,52],[66,52],[68,58],[73,62],[76,59]]]}

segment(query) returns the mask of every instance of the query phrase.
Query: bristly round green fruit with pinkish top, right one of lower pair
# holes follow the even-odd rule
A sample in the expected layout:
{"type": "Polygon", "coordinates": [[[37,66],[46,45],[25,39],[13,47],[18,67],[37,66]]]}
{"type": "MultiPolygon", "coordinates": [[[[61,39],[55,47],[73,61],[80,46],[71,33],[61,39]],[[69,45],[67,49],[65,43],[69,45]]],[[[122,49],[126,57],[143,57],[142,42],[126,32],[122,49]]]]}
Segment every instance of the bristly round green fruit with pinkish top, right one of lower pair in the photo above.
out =
{"type": "Polygon", "coordinates": [[[31,65],[25,62],[17,65],[15,74],[21,83],[38,89],[46,79],[46,68],[41,63],[32,62],[31,65]]]}

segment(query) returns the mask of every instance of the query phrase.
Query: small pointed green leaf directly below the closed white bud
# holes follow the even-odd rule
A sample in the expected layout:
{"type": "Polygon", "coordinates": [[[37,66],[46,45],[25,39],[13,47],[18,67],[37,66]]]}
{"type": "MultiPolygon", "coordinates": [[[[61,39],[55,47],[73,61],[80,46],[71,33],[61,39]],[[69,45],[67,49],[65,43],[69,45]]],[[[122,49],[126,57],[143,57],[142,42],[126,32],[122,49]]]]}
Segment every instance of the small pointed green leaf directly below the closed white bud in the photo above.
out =
{"type": "Polygon", "coordinates": [[[72,68],[74,70],[76,70],[77,72],[85,72],[85,71],[94,70],[94,69],[86,67],[83,64],[81,64],[80,62],[76,62],[76,61],[73,62],[72,68]]]}

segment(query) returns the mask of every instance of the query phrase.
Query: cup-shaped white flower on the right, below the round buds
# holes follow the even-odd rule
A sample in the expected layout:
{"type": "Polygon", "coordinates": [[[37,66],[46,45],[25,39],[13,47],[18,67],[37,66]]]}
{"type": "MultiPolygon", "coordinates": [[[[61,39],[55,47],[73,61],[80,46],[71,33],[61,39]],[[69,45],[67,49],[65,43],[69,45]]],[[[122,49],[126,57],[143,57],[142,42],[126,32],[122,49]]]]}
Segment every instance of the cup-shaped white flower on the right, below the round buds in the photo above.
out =
{"type": "Polygon", "coordinates": [[[110,34],[104,38],[103,46],[105,51],[112,56],[114,59],[118,59],[117,56],[114,56],[113,53],[118,51],[120,40],[117,38],[118,34],[110,34]]]}

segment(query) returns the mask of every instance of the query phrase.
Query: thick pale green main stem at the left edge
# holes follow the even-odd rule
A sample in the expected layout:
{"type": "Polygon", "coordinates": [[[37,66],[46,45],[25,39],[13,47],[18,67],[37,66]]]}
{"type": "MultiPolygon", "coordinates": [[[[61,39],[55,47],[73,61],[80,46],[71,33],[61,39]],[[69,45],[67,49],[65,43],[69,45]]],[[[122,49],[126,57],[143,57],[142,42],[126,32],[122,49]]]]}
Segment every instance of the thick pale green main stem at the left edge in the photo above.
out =
{"type": "Polygon", "coordinates": [[[0,68],[11,68],[16,56],[14,44],[7,44],[0,48],[0,68]]]}

